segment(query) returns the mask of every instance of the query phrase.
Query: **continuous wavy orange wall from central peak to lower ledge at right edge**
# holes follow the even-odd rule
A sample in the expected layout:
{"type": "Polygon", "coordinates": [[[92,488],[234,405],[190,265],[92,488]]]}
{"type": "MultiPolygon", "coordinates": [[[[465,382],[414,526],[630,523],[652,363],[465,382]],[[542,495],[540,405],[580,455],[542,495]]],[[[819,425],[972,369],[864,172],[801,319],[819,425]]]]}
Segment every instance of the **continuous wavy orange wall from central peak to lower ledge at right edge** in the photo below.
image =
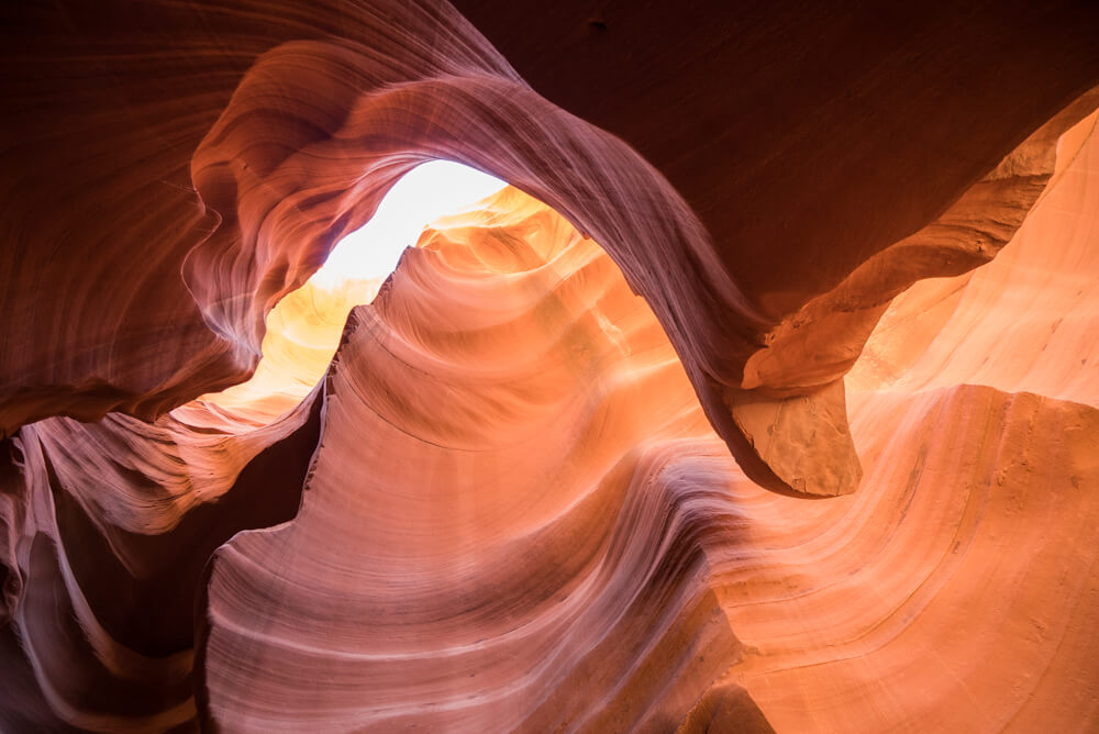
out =
{"type": "MultiPolygon", "coordinates": [[[[1089,282],[1099,268],[1073,253],[1099,212],[1096,149],[1017,252],[1064,243],[1061,276],[1089,282]],[[1083,237],[1048,227],[1066,211],[1083,237]]],[[[1094,408],[958,383],[858,391],[866,490],[808,505],[763,492],[607,257],[544,208],[522,216],[517,196],[444,223],[353,315],[301,512],[215,555],[211,723],[703,731],[724,709],[688,708],[725,668],[715,688],[739,691],[737,719],[778,731],[1097,720],[1094,408]],[[278,612],[257,625],[256,609],[278,612]],[[624,640],[645,641],[640,659],[618,657],[624,640]],[[988,654],[1002,648],[1010,664],[988,654]],[[308,689],[286,682],[322,668],[308,689]],[[265,669],[284,674],[251,672],[265,669]],[[1045,692],[1051,669],[1083,685],[1045,692]],[[913,679],[918,697],[902,693],[913,679]]],[[[1077,315],[1073,354],[1099,318],[1077,315]]]]}

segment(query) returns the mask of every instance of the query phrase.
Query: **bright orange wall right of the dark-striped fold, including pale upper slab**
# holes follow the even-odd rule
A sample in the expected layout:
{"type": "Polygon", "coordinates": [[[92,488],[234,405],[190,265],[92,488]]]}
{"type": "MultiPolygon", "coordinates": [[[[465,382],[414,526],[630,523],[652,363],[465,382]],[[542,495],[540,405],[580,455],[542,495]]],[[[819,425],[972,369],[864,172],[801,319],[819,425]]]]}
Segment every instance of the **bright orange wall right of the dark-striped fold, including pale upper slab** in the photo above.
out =
{"type": "Polygon", "coordinates": [[[918,283],[870,336],[848,376],[863,490],[793,508],[733,485],[752,542],[715,577],[751,653],[722,685],[777,731],[1099,725],[1094,116],[1059,153],[1000,256],[918,283]]]}

